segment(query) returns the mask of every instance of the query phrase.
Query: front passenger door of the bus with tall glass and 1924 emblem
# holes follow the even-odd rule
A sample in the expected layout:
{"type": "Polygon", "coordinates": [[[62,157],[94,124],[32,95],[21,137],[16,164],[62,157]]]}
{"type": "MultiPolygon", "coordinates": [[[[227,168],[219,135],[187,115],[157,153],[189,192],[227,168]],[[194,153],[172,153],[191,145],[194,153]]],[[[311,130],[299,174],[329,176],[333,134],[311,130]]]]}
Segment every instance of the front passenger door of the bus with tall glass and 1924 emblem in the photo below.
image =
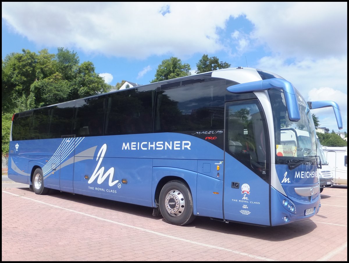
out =
{"type": "Polygon", "coordinates": [[[270,225],[269,145],[257,99],[229,102],[225,108],[225,220],[270,225]]]}

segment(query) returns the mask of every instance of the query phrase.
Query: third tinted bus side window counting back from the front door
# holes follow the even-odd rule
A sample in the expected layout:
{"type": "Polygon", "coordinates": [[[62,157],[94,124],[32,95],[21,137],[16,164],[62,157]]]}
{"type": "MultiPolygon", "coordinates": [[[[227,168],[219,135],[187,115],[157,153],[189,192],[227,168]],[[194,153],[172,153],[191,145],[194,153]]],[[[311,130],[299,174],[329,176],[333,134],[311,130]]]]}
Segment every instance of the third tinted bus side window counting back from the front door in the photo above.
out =
{"type": "Polygon", "coordinates": [[[106,95],[76,100],[73,134],[103,135],[106,95]]]}

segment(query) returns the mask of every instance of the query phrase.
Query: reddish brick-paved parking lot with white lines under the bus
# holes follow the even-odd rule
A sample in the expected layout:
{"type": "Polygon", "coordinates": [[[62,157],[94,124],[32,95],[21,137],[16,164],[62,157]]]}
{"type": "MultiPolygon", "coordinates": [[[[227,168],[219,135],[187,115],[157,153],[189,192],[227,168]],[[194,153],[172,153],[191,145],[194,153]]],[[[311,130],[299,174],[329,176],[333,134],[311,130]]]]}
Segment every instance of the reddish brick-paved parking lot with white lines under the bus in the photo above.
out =
{"type": "Polygon", "coordinates": [[[319,214],[263,228],[197,218],[173,226],[148,207],[2,183],[2,261],[347,261],[347,186],[319,214]]]}

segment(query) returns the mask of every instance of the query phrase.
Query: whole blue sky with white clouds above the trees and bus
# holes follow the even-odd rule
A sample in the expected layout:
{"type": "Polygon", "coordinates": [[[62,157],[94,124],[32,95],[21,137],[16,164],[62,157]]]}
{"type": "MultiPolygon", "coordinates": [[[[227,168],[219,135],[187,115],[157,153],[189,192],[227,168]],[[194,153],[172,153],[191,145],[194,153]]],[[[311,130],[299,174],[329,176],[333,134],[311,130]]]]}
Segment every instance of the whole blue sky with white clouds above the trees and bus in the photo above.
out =
{"type": "Polygon", "coordinates": [[[90,61],[106,83],[148,84],[164,59],[191,66],[206,54],[289,80],[320,127],[347,130],[347,2],[2,2],[2,59],[62,47],[90,61]]]}

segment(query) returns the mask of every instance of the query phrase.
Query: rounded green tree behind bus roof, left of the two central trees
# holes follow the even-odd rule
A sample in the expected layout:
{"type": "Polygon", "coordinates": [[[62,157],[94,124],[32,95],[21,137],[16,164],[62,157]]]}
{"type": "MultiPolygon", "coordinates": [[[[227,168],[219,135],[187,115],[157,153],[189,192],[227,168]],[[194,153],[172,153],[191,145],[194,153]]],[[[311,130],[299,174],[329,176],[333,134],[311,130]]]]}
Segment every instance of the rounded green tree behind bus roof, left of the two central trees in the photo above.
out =
{"type": "Polygon", "coordinates": [[[190,76],[190,70],[190,65],[187,63],[182,64],[179,58],[171,57],[164,59],[156,70],[155,79],[150,81],[150,83],[190,76]]]}

